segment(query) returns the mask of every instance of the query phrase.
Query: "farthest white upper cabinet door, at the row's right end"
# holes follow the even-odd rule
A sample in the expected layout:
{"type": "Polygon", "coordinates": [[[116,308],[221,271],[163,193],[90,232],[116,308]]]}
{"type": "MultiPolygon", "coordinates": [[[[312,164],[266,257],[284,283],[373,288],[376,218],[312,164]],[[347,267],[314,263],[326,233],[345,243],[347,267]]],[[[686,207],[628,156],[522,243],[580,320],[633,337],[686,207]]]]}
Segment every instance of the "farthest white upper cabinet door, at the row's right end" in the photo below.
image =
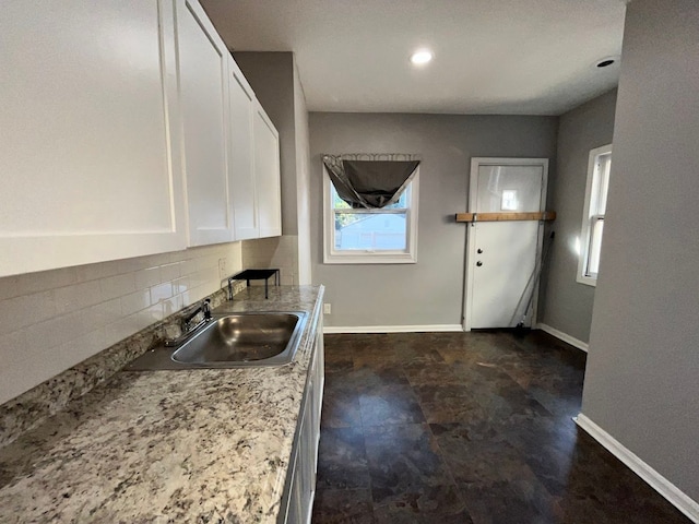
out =
{"type": "Polygon", "coordinates": [[[279,237],[282,235],[280,138],[274,124],[257,100],[253,140],[260,237],[279,237]]]}

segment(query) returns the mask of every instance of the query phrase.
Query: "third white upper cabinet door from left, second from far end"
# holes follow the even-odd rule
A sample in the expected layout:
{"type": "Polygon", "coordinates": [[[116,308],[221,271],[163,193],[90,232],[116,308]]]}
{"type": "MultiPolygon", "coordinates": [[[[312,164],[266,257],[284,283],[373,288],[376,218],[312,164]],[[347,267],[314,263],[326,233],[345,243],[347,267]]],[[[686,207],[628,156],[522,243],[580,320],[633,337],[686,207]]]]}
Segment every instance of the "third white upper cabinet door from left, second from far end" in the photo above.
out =
{"type": "Polygon", "coordinates": [[[252,130],[254,93],[238,66],[229,59],[228,98],[230,100],[230,155],[228,179],[235,217],[235,240],[258,238],[258,206],[256,198],[252,130]]]}

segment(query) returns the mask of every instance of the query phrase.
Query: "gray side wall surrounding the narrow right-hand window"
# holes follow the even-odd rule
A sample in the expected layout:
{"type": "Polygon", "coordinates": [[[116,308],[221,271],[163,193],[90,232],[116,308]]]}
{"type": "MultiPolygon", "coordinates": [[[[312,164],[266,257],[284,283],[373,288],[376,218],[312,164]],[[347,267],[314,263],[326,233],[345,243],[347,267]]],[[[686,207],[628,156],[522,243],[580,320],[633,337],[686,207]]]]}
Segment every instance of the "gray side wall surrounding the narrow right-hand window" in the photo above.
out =
{"type": "Polygon", "coordinates": [[[557,212],[556,238],[542,275],[538,322],[582,342],[590,340],[595,289],[576,281],[588,157],[590,150],[612,143],[615,107],[616,90],[560,117],[556,177],[548,187],[550,209],[557,212]]]}

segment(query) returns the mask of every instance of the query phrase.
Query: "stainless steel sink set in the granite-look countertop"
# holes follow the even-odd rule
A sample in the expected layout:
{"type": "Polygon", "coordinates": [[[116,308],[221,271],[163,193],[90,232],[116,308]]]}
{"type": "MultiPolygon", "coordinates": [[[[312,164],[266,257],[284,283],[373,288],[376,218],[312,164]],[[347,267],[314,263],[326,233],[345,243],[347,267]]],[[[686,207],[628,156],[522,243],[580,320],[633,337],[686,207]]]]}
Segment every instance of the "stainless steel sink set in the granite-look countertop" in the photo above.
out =
{"type": "Polygon", "coordinates": [[[146,352],[125,370],[282,366],[294,359],[306,318],[303,311],[214,314],[179,348],[146,352]]]}

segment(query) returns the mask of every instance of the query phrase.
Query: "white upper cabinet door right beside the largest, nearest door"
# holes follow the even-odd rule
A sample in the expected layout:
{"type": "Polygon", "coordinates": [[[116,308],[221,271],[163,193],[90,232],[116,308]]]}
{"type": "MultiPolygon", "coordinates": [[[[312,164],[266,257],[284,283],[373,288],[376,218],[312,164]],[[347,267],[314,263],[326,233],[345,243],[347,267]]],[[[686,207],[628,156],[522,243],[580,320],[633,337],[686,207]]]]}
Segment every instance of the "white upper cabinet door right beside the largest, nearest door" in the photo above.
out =
{"type": "Polygon", "coordinates": [[[193,0],[178,0],[177,41],[189,243],[233,239],[227,168],[228,50],[193,0]]]}

